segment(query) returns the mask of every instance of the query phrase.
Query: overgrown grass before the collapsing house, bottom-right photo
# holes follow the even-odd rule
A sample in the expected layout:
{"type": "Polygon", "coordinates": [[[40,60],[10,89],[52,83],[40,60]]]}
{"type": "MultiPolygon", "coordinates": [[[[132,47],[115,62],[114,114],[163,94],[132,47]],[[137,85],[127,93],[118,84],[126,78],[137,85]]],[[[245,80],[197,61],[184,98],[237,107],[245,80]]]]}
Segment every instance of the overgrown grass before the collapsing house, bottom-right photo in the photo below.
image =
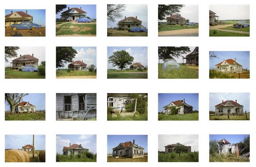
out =
{"type": "Polygon", "coordinates": [[[241,158],[235,154],[219,155],[217,153],[210,154],[210,162],[250,162],[250,158],[241,158]]]}

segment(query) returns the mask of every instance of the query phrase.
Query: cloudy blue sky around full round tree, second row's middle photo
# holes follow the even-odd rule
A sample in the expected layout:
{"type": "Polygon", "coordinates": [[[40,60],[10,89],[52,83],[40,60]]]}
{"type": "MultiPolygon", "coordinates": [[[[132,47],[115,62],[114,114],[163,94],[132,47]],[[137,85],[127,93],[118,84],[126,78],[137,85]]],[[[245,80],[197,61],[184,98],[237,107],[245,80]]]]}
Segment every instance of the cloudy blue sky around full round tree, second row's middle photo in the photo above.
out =
{"type": "MultiPolygon", "coordinates": [[[[141,64],[145,67],[148,66],[148,47],[108,47],[108,58],[112,56],[115,51],[127,51],[130,56],[132,56],[133,63],[141,62],[141,64]]],[[[108,63],[108,61],[107,61],[108,63]]],[[[129,68],[130,66],[127,66],[129,68]]],[[[108,69],[118,69],[117,66],[113,67],[112,63],[108,63],[108,69]]]]}

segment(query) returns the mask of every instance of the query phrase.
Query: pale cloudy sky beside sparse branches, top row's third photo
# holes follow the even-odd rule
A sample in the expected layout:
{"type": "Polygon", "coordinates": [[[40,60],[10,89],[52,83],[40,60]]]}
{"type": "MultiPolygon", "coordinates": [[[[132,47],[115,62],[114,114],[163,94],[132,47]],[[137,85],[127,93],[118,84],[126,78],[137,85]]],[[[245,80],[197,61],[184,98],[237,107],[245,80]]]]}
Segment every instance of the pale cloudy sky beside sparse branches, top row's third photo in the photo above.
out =
{"type": "MultiPolygon", "coordinates": [[[[107,5],[106,5],[107,7],[107,5]]],[[[117,27],[117,23],[126,17],[136,17],[142,21],[141,25],[148,28],[148,5],[126,5],[125,10],[121,12],[122,17],[116,19],[115,22],[108,21],[108,28],[117,27]]],[[[106,16],[107,17],[107,16],[106,16]]]]}

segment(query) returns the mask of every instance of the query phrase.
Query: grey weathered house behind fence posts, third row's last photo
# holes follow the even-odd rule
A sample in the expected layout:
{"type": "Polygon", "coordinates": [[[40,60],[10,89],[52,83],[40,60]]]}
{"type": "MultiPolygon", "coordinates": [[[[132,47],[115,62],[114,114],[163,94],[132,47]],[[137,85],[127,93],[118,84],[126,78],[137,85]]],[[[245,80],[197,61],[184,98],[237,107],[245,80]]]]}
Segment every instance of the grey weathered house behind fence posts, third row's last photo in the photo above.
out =
{"type": "Polygon", "coordinates": [[[243,115],[243,106],[237,100],[222,100],[222,103],[215,106],[215,115],[243,115]]]}

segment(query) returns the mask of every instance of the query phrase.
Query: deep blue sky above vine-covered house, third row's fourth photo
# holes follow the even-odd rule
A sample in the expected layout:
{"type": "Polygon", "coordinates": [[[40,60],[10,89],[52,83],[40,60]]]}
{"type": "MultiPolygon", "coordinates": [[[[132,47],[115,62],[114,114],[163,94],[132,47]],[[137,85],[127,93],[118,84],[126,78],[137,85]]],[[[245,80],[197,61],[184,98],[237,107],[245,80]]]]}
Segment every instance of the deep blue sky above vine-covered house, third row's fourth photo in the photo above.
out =
{"type": "Polygon", "coordinates": [[[158,112],[161,112],[163,107],[172,101],[182,100],[183,98],[185,98],[185,103],[193,106],[193,111],[198,110],[198,93],[159,93],[158,112]]]}

